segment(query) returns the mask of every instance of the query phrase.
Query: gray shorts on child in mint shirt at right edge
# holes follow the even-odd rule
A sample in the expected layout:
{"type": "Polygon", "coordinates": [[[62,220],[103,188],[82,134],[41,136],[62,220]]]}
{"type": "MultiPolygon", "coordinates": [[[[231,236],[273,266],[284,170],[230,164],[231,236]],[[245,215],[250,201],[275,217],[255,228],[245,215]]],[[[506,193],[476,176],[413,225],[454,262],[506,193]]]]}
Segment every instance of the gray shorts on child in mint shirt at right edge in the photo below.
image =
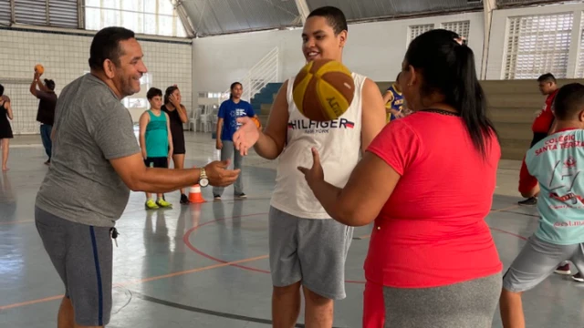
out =
{"type": "Polygon", "coordinates": [[[503,277],[509,292],[526,292],[551,275],[558,264],[570,260],[584,272],[584,244],[556,245],[531,236],[503,277]]]}

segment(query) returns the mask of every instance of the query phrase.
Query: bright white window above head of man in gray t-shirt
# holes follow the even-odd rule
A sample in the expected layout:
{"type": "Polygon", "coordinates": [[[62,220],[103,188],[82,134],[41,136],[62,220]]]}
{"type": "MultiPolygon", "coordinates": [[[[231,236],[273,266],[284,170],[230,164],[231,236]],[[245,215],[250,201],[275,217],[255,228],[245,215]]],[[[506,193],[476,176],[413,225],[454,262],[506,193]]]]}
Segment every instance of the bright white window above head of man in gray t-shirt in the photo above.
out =
{"type": "Polygon", "coordinates": [[[85,28],[123,26],[138,34],[185,37],[171,0],[86,0],[85,28]]]}

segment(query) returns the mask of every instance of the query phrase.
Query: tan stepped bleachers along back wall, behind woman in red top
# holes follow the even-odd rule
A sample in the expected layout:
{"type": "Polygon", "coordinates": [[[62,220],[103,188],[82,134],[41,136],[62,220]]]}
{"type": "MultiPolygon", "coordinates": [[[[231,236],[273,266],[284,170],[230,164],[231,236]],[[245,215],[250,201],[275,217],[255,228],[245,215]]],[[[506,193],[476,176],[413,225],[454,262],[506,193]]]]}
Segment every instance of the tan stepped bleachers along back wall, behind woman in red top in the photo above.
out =
{"type": "MultiPolygon", "coordinates": [[[[558,86],[583,79],[561,79],[558,86]]],[[[393,82],[377,82],[383,93],[393,82]]],[[[260,120],[266,125],[267,116],[281,83],[268,85],[254,97],[252,106],[259,109],[260,120]]],[[[486,80],[481,81],[488,103],[488,116],[499,134],[502,158],[523,159],[532,138],[531,124],[543,108],[545,96],[539,93],[537,80],[486,80]]]]}

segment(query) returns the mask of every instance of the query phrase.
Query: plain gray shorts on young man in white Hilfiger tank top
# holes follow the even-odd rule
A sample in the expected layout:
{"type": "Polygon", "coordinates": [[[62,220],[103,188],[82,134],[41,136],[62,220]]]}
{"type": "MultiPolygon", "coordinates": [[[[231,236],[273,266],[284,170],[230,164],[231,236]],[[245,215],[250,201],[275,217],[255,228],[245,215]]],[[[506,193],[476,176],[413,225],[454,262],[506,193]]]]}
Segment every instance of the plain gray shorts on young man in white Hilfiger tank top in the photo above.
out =
{"type": "Polygon", "coordinates": [[[344,299],[345,260],[353,230],[336,220],[301,219],[270,207],[270,269],[274,286],[302,282],[318,295],[344,299]]]}

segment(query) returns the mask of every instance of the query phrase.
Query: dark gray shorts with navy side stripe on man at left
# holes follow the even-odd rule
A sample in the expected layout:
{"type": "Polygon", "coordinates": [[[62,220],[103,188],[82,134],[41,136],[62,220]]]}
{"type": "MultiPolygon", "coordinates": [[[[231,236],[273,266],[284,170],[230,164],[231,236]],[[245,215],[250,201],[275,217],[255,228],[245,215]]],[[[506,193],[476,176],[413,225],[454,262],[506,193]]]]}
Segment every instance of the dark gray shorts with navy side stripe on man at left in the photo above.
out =
{"type": "Polygon", "coordinates": [[[48,257],[65,283],[75,322],[81,326],[110,323],[110,228],[64,220],[37,207],[35,221],[48,257]]]}

